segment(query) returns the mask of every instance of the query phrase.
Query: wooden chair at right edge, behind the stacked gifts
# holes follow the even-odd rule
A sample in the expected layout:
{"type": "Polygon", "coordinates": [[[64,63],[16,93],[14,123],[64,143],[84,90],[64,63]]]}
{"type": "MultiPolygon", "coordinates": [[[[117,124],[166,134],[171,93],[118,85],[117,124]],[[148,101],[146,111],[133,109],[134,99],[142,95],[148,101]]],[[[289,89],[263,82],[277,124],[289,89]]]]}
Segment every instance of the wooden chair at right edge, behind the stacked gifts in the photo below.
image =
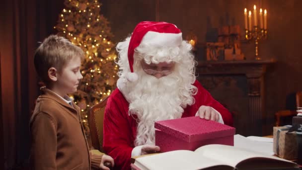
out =
{"type": "MultiPolygon", "coordinates": [[[[296,92],[296,105],[298,107],[302,107],[302,91],[296,92]]],[[[281,110],[275,113],[276,117],[276,126],[280,126],[282,117],[289,117],[297,115],[296,110],[281,110]]]]}

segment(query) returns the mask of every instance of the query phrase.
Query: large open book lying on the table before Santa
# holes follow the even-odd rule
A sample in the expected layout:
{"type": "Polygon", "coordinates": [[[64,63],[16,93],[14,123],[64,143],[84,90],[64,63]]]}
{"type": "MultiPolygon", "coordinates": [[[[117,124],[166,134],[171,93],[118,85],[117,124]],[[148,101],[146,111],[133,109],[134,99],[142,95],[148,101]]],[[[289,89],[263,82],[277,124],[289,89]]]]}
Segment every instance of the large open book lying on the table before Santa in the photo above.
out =
{"type": "Polygon", "coordinates": [[[299,170],[291,161],[227,145],[205,145],[136,158],[137,170],[299,170]]]}

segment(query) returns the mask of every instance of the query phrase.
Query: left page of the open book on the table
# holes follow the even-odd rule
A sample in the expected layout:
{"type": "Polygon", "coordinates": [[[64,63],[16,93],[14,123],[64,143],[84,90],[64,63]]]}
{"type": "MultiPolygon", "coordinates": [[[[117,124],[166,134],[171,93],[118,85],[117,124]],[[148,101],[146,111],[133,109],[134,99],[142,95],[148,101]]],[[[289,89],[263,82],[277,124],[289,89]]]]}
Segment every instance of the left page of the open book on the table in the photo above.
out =
{"type": "MultiPolygon", "coordinates": [[[[143,170],[199,170],[223,164],[192,151],[177,150],[138,158],[135,165],[143,170]]],[[[232,167],[223,169],[233,170],[232,167]]]]}

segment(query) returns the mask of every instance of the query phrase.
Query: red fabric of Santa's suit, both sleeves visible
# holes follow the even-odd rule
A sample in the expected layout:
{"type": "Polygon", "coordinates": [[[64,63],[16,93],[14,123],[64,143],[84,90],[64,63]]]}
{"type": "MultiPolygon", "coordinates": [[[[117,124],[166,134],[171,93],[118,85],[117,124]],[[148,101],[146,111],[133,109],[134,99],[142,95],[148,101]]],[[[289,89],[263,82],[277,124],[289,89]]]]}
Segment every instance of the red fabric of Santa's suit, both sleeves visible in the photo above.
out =
{"type": "MultiPolygon", "coordinates": [[[[211,106],[221,114],[226,125],[233,126],[232,116],[228,110],[198,81],[193,85],[198,88],[197,94],[194,95],[195,103],[184,108],[182,117],[195,116],[202,105],[211,106]]],[[[131,169],[131,152],[135,147],[138,120],[128,112],[129,102],[118,88],[115,89],[105,108],[103,149],[114,159],[117,170],[131,169]]]]}

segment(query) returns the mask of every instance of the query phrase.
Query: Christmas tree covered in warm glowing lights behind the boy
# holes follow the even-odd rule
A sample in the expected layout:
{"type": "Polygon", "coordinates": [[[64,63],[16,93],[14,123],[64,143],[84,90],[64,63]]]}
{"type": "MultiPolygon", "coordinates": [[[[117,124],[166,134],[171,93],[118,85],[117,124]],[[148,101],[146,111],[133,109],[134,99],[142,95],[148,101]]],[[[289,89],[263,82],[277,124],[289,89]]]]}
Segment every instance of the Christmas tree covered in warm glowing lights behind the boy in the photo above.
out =
{"type": "Polygon", "coordinates": [[[58,34],[79,46],[85,53],[81,65],[83,79],[70,96],[81,109],[81,120],[89,137],[87,111],[115,88],[118,67],[115,64],[113,36],[109,22],[100,14],[98,0],[65,0],[66,8],[54,27],[58,34]]]}

